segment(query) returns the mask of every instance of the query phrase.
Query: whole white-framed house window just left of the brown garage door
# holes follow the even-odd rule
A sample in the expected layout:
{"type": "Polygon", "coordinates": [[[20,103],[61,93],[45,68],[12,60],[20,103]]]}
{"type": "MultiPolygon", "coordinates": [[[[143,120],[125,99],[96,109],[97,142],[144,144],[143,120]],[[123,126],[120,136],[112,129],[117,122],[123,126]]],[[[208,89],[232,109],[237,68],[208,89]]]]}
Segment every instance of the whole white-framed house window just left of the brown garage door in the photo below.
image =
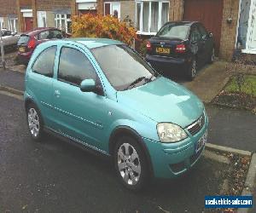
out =
{"type": "Polygon", "coordinates": [[[169,2],[137,1],[136,22],[137,33],[154,35],[169,20],[169,2]]]}

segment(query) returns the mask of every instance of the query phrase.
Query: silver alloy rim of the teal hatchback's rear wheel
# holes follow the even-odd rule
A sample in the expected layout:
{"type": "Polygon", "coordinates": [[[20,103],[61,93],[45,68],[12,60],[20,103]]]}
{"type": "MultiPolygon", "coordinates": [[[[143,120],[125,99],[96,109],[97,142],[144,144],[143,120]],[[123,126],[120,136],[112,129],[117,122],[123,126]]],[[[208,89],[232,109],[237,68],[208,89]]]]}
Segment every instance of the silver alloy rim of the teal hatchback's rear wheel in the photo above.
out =
{"type": "Polygon", "coordinates": [[[31,134],[36,138],[39,134],[39,117],[38,112],[34,108],[30,108],[27,112],[27,121],[28,121],[28,127],[31,132],[31,134]]]}

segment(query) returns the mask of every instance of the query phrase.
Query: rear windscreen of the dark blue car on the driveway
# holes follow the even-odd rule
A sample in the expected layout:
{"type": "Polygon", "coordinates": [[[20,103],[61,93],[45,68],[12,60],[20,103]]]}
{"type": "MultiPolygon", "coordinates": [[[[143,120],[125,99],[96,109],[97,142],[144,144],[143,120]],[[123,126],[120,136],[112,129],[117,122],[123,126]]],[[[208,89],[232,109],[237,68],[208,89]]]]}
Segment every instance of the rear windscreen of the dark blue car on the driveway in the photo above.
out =
{"type": "Polygon", "coordinates": [[[188,25],[167,24],[160,29],[160,32],[156,34],[156,37],[177,37],[184,40],[188,37],[188,34],[188,25]]]}

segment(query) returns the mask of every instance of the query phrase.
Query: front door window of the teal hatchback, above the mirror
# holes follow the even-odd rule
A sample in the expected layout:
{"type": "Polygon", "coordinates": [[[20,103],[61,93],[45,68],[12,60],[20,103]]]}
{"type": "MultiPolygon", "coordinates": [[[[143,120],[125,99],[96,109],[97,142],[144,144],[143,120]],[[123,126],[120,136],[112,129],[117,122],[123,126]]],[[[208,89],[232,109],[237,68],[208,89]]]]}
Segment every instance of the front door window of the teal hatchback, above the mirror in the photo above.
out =
{"type": "Polygon", "coordinates": [[[58,79],[79,86],[84,79],[96,80],[90,60],[78,49],[62,48],[58,79]]]}

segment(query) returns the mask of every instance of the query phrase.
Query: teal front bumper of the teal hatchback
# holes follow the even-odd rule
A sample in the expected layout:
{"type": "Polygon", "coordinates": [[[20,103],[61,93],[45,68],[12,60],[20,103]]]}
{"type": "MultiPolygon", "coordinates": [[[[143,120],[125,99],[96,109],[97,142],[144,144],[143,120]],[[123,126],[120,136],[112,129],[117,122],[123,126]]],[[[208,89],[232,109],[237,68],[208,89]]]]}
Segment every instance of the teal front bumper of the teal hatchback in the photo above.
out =
{"type": "Polygon", "coordinates": [[[207,131],[208,118],[202,129],[195,135],[189,135],[185,140],[176,143],[161,143],[143,138],[151,158],[154,176],[157,178],[172,178],[180,176],[196,164],[204,147],[195,153],[195,144],[207,131]]]}

